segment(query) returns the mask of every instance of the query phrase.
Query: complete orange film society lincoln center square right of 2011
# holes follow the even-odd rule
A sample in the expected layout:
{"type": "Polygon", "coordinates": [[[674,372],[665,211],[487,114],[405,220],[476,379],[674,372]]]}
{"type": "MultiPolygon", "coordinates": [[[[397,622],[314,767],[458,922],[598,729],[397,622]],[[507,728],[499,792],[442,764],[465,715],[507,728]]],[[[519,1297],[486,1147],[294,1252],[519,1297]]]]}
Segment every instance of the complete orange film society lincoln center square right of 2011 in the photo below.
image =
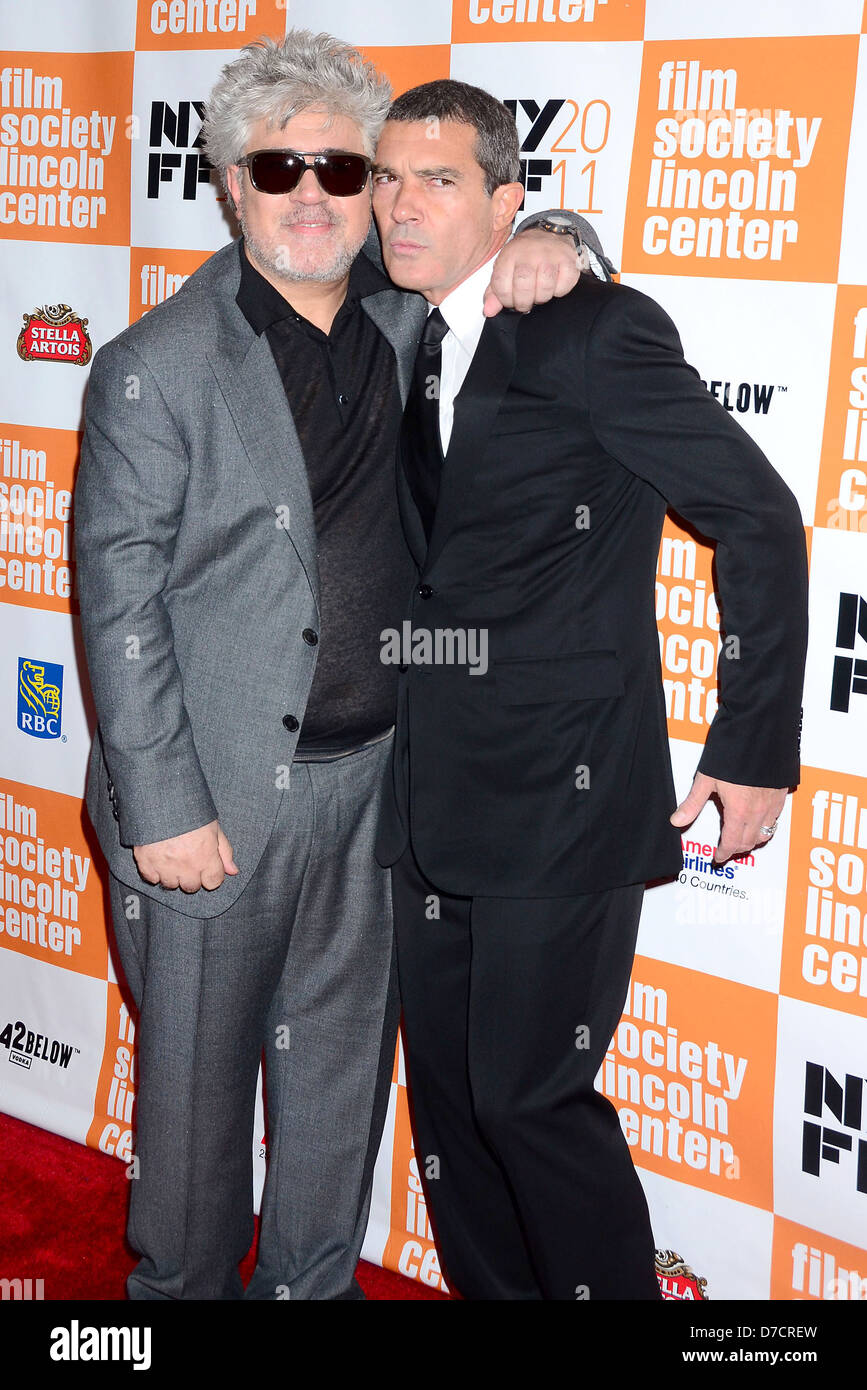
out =
{"type": "Polygon", "coordinates": [[[857,49],[645,43],[624,270],[835,281],[857,49]]]}

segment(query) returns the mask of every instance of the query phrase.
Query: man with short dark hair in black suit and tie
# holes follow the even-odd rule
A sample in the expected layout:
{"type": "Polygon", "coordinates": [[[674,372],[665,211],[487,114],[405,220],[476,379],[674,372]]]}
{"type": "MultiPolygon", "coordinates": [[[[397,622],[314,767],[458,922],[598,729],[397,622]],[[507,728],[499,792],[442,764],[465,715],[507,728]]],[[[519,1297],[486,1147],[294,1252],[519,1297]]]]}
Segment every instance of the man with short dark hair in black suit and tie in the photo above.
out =
{"type": "Polygon", "coordinates": [[[521,195],[492,96],[442,81],[392,104],[374,215],[392,279],[435,307],[400,439],[418,580],[378,853],[449,1283],[653,1300],[647,1207],[595,1077],[643,884],[682,865],[675,827],[714,795],[717,858],[746,852],[798,781],[804,537],[653,300],[588,279],[484,321],[478,286],[521,195]],[[717,542],[736,638],[677,810],[653,603],[666,502],[717,542]],[[438,662],[443,634],[485,669],[438,662]]]}

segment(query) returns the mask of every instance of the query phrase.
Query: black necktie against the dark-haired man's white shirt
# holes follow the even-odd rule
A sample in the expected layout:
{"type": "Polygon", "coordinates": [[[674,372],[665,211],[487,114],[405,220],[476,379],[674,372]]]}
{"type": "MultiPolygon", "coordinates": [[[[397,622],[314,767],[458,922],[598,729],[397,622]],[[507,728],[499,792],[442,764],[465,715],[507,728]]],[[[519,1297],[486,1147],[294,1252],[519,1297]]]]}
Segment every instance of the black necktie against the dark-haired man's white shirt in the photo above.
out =
{"type": "Polygon", "coordinates": [[[447,332],[446,320],[439,309],[435,309],[434,313],[428,314],[415,354],[413,385],[400,431],[403,468],[428,541],[431,539],[443,464],[439,438],[439,381],[442,375],[440,345],[447,332]]]}

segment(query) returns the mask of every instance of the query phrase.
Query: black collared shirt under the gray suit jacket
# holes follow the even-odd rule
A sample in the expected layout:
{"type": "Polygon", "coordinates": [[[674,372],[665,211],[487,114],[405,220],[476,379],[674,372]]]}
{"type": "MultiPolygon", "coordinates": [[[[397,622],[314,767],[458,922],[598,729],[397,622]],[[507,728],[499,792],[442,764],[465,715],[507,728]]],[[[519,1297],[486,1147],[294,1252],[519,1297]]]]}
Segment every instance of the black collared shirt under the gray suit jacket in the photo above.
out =
{"type": "Polygon", "coordinates": [[[265,334],[307,466],[321,588],[320,653],[299,758],[333,756],[395,723],[397,670],[381,632],[400,627],[413,585],[395,488],[400,392],[395,353],[361,299],[390,282],[365,256],[331,332],[303,318],[239,242],[238,306],[265,334]]]}

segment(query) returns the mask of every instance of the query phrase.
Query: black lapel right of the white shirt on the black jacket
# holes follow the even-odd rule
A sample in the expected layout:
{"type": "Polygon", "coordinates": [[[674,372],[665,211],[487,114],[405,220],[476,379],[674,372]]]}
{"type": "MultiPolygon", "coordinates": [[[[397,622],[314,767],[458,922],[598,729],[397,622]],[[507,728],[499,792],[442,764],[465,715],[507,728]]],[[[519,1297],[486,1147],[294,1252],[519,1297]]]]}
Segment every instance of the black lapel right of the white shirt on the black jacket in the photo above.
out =
{"type": "Polygon", "coordinates": [[[518,313],[503,309],[495,318],[485,320],[479,345],[470,363],[464,384],[454,399],[454,421],[443,461],[439,500],[425,562],[428,570],[439,557],[450,531],[464,512],[464,502],[474,482],[477,460],[485,452],[500,403],[514,373],[515,335],[521,317],[518,313]]]}

